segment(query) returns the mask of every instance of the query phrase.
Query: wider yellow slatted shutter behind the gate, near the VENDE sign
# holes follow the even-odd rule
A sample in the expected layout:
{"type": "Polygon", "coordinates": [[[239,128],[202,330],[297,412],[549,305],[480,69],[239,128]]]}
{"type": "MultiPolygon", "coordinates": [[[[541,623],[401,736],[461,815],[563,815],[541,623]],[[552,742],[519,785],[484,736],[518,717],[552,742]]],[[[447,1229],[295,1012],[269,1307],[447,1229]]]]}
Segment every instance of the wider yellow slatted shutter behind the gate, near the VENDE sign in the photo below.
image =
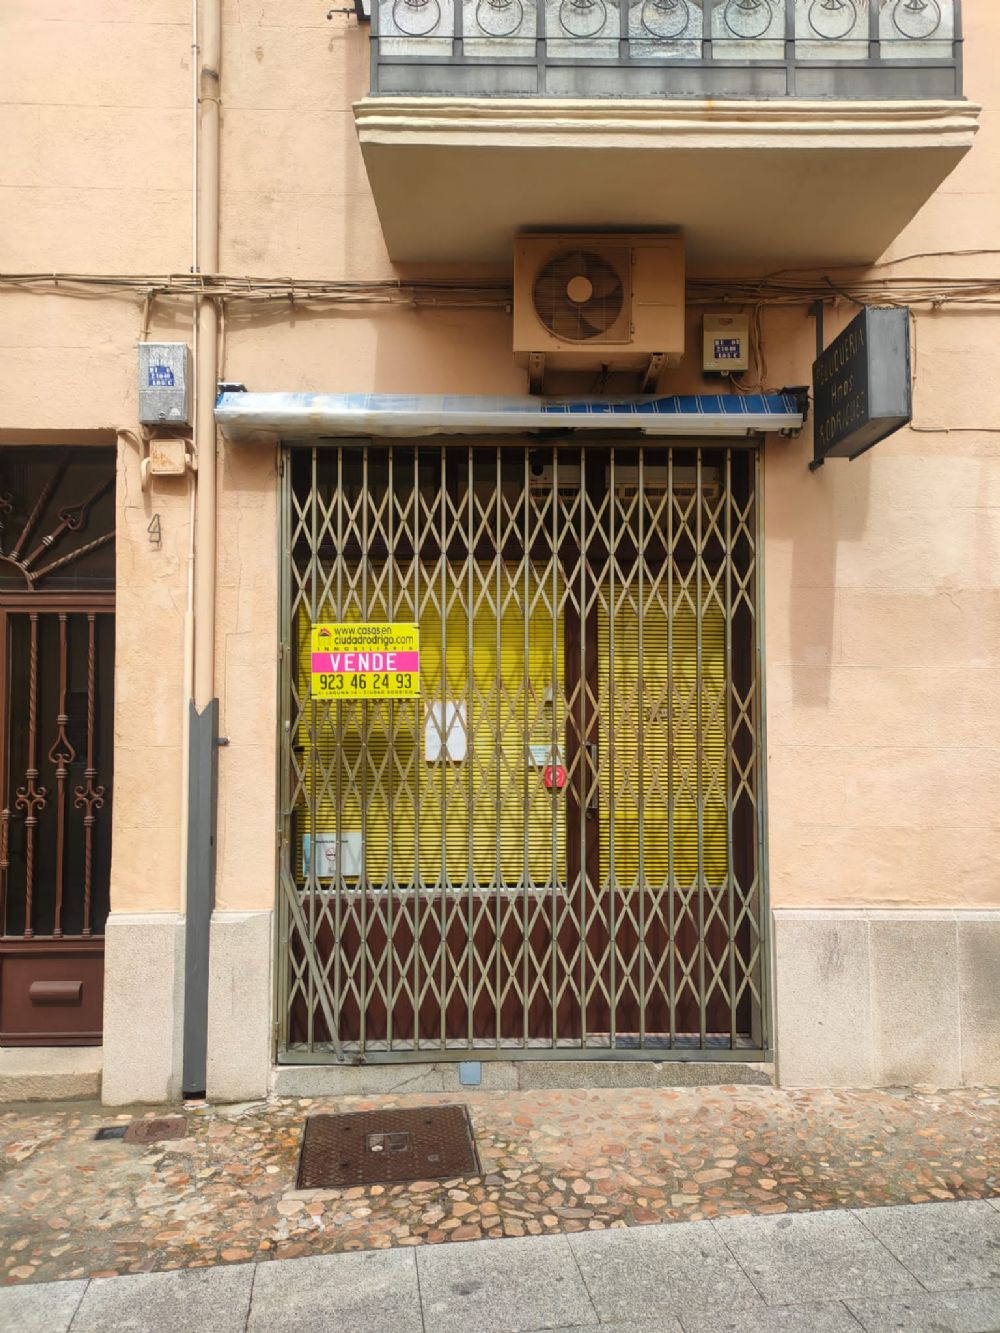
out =
{"type": "MultiPolygon", "coordinates": [[[[531,745],[551,745],[552,736],[560,738],[565,728],[561,620],[553,641],[552,599],[537,597],[535,576],[524,588],[516,568],[503,571],[499,589],[496,571],[479,568],[471,615],[467,589],[456,589],[449,573],[447,612],[432,608],[419,617],[419,700],[317,701],[315,736],[313,709],[303,713],[299,828],[307,836],[313,830],[335,836],[339,804],[341,837],[353,834],[363,842],[369,884],[436,886],[444,877],[452,888],[513,888],[524,873],[539,886],[565,881],[565,797],[545,788],[541,768],[529,760],[531,745]],[[525,599],[531,605],[527,636],[525,599]],[[435,704],[464,708],[467,753],[460,762],[427,761],[425,728],[435,704]],[[339,724],[337,708],[343,710],[339,724]],[[315,818],[309,814],[313,793],[315,818]]],[[[325,607],[320,619],[336,619],[333,609],[325,607]]],[[[348,605],[341,619],[360,621],[360,607],[348,605]]],[[[372,604],[368,619],[391,616],[384,605],[372,604]]],[[[412,619],[411,613],[404,619],[412,619]]],[[[300,697],[307,698],[309,619],[304,608],[297,639],[297,684],[300,697]]],[[[301,842],[296,869],[301,877],[301,842]]]]}

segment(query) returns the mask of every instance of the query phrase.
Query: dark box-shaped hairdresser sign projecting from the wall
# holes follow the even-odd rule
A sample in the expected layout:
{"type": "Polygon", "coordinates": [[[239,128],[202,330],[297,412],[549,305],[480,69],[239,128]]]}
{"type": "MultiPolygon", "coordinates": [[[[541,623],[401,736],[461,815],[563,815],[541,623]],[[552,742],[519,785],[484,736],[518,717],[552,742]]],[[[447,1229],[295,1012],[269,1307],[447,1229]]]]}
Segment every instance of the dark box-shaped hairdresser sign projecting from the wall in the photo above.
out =
{"type": "Polygon", "coordinates": [[[912,417],[909,311],[865,305],[812,367],[813,455],[856,459],[912,417]]]}

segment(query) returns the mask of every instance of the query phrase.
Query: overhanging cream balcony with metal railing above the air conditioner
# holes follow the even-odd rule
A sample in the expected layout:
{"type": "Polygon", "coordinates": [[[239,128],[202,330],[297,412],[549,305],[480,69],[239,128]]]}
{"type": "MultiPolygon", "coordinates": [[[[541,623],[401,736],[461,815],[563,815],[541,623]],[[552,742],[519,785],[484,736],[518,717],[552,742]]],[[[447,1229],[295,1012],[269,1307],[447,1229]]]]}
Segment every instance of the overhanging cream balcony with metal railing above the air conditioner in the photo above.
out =
{"type": "Polygon", "coordinates": [[[869,263],[968,152],[959,0],[372,0],[389,255],[680,227],[695,265],[869,263]]]}

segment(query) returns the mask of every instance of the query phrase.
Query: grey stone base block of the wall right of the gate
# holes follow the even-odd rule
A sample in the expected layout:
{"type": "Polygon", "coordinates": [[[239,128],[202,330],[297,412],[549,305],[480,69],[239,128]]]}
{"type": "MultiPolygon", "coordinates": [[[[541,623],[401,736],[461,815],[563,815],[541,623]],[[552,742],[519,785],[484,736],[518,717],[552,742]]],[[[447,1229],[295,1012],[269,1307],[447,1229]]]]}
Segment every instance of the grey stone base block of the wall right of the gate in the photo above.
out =
{"type": "Polygon", "coordinates": [[[1000,1084],[1000,910],[773,918],[781,1085],[1000,1084]]]}

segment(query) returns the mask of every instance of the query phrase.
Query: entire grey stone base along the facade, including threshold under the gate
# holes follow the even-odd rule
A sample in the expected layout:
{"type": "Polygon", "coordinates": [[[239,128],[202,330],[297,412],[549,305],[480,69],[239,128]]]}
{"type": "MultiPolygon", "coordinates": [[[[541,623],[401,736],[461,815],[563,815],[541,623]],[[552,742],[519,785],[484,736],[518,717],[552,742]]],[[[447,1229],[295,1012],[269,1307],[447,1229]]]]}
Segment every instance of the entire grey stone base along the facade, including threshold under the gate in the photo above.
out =
{"type": "MultiPolygon", "coordinates": [[[[268,1090],[364,1096],[463,1086],[455,1062],[272,1068],[272,916],[212,918],[212,1101],[249,1101],[268,1090]]],[[[776,909],[773,920],[776,1069],[723,1061],[483,1061],[479,1086],[1000,1084],[1000,910],[776,909]]],[[[115,914],[108,922],[108,1105],[164,1102],[180,1093],[183,945],[183,918],[172,913],[115,914]]]]}

